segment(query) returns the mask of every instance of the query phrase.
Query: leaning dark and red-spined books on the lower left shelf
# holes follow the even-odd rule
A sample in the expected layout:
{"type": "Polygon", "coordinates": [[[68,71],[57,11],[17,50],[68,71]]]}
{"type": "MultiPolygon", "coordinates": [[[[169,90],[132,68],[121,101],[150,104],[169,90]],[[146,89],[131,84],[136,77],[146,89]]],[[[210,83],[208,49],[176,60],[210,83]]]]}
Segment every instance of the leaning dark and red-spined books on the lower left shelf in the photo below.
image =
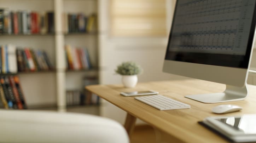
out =
{"type": "Polygon", "coordinates": [[[18,76],[0,76],[0,107],[27,109],[18,76]]]}

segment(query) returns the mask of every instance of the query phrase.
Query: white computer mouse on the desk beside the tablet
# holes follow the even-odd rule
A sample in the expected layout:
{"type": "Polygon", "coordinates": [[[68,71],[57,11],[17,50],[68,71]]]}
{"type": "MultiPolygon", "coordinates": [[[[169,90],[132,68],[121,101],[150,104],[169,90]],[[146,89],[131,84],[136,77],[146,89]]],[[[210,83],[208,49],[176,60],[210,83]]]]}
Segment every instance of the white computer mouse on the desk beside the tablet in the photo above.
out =
{"type": "Polygon", "coordinates": [[[214,107],[211,111],[217,114],[222,114],[222,113],[240,111],[242,109],[243,109],[242,107],[239,107],[237,105],[219,105],[214,107]]]}

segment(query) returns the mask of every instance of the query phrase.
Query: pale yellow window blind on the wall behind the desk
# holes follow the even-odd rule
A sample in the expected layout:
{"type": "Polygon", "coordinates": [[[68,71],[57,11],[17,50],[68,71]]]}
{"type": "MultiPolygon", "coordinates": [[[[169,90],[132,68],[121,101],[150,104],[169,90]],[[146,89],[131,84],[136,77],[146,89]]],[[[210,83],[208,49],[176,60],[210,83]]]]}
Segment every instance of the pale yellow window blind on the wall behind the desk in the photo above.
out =
{"type": "Polygon", "coordinates": [[[167,35],[165,0],[111,0],[110,19],[114,37],[167,35]]]}

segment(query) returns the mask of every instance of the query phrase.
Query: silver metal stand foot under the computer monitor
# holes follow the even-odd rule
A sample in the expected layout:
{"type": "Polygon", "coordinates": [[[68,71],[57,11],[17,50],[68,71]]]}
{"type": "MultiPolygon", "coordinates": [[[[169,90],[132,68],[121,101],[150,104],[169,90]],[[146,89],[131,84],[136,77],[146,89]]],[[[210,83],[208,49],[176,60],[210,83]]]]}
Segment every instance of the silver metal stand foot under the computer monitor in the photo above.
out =
{"type": "Polygon", "coordinates": [[[203,103],[220,103],[244,100],[247,96],[247,93],[247,84],[245,84],[243,87],[226,85],[226,90],[222,93],[187,95],[185,97],[203,103]]]}

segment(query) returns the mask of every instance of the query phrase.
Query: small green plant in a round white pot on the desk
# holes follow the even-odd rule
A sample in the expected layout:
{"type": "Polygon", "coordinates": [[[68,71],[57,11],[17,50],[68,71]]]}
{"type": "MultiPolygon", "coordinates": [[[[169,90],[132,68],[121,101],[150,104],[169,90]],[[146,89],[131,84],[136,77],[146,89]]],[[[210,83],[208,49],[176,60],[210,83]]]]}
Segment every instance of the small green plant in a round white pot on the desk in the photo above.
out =
{"type": "Polygon", "coordinates": [[[142,69],[133,61],[123,62],[117,66],[116,73],[122,75],[122,83],[125,87],[135,87],[138,82],[137,75],[142,69]]]}

